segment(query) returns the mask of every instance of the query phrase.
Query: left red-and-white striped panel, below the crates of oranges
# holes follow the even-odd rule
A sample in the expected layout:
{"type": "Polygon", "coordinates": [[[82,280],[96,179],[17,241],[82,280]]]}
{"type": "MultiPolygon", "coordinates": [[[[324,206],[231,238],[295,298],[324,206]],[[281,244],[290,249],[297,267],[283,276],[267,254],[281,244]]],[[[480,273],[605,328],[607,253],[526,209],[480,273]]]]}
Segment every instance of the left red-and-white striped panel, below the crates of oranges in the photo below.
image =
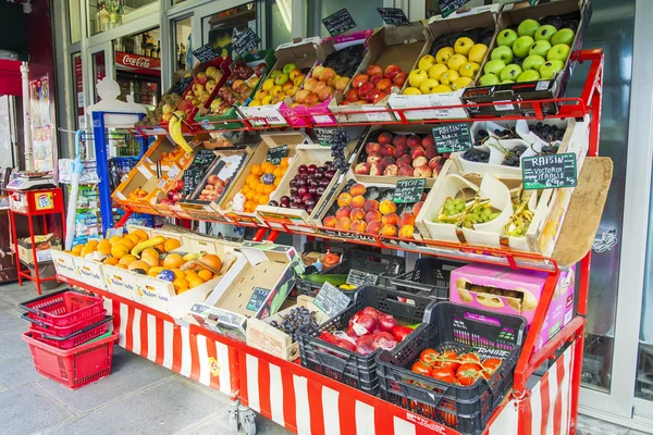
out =
{"type": "Polygon", "coordinates": [[[224,394],[237,391],[231,381],[237,361],[227,346],[115,300],[111,311],[119,346],[224,394]]]}

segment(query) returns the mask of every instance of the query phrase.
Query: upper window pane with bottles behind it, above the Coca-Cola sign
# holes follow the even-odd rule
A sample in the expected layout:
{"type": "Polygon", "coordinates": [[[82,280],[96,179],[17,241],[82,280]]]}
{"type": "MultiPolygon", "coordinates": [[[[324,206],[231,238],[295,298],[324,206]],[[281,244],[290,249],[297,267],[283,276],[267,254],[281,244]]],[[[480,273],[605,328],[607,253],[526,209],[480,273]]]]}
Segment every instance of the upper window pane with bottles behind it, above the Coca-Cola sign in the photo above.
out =
{"type": "Polygon", "coordinates": [[[88,33],[97,35],[111,30],[138,16],[138,10],[158,0],[86,0],[88,33]]]}

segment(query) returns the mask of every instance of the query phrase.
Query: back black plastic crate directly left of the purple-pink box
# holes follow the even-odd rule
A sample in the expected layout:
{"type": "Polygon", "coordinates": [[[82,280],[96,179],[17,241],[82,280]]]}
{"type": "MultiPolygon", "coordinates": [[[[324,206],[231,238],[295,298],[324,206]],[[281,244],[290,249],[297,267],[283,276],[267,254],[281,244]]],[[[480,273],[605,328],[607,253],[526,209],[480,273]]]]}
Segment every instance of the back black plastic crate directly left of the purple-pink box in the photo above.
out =
{"type": "Polygon", "coordinates": [[[466,263],[424,257],[417,260],[415,270],[394,278],[390,285],[403,291],[428,296],[438,300],[449,300],[449,281],[452,271],[466,263]]]}

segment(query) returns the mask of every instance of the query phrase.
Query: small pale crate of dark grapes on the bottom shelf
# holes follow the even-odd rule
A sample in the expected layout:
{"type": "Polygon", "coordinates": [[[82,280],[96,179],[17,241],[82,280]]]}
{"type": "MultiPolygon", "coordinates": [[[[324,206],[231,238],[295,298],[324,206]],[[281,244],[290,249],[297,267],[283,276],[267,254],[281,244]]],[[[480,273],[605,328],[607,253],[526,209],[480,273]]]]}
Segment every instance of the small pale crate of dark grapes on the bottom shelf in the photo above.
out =
{"type": "Polygon", "coordinates": [[[286,361],[299,358],[299,341],[293,341],[293,337],[271,326],[272,321],[281,322],[283,316],[288,315],[295,307],[306,307],[309,311],[316,311],[316,322],[322,324],[330,318],[313,303],[315,298],[299,295],[297,304],[279,311],[264,320],[250,318],[247,321],[247,346],[260,349],[286,361]]]}

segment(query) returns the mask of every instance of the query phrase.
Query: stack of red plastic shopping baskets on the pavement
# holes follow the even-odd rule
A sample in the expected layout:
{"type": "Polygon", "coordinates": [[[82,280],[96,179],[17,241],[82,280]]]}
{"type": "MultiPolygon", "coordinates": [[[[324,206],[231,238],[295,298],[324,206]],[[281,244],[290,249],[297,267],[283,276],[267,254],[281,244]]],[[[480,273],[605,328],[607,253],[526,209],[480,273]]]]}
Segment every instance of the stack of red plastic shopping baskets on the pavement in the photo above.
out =
{"type": "Polygon", "coordinates": [[[65,289],[20,307],[30,322],[23,340],[38,373],[75,389],[111,372],[118,334],[101,298],[65,289]]]}

